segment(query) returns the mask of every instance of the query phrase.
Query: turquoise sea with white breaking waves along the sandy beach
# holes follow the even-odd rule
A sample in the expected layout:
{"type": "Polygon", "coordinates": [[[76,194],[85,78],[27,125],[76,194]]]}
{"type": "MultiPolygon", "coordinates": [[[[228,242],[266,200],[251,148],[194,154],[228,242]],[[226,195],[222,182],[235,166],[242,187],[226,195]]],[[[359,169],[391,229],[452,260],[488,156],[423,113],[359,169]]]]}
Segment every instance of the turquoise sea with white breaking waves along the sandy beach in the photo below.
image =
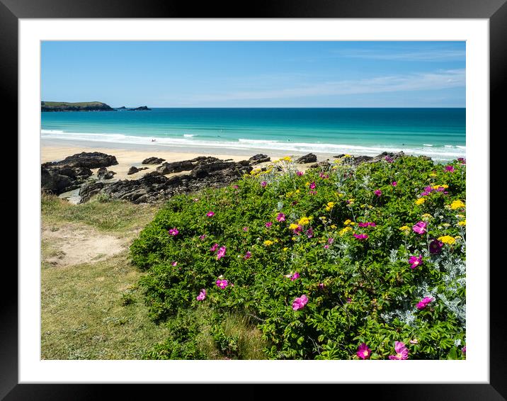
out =
{"type": "MultiPolygon", "coordinates": [[[[42,138],[168,147],[465,157],[465,108],[153,108],[41,113],[42,138]]],[[[100,145],[99,143],[97,144],[100,145]]]]}

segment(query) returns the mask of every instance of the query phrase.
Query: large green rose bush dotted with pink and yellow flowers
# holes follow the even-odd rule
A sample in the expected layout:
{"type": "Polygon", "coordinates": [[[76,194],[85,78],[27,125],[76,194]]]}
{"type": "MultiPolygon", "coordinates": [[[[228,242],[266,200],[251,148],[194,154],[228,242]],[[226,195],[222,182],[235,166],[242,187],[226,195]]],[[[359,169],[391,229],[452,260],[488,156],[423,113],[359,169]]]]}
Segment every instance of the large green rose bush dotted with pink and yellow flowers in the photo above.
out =
{"type": "Polygon", "coordinates": [[[465,358],[465,161],[352,161],[172,198],[131,247],[152,318],[249,316],[268,358],[465,358]]]}

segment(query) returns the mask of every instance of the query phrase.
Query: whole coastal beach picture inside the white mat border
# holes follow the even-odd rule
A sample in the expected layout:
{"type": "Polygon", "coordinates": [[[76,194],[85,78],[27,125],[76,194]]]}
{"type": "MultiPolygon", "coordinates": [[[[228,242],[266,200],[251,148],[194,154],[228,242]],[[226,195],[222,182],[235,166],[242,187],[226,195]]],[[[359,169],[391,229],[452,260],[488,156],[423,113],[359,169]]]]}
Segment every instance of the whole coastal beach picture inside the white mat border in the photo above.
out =
{"type": "Polygon", "coordinates": [[[40,359],[465,363],[467,82],[466,40],[41,40],[40,359]]]}

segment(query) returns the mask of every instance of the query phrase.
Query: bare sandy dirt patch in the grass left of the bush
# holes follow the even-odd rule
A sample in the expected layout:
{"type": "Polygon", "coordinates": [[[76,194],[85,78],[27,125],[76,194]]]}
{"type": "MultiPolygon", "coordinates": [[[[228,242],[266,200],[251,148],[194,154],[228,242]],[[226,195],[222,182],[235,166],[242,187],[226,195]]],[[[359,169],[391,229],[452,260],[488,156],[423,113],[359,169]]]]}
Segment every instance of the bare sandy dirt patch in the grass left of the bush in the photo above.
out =
{"type": "Polygon", "coordinates": [[[129,239],[106,235],[92,227],[73,223],[42,225],[42,242],[48,244],[45,260],[53,266],[103,261],[123,252],[129,239]]]}

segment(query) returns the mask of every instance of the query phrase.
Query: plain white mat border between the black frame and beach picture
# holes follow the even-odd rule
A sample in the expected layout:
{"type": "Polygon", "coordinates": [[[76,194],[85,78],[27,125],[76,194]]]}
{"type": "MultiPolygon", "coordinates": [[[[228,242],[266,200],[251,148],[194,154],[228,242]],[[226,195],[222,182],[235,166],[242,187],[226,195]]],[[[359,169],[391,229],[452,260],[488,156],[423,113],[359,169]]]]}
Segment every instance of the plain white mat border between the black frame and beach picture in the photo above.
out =
{"type": "Polygon", "coordinates": [[[19,20],[20,383],[489,383],[489,20],[19,20]],[[466,361],[40,361],[40,40],[466,40],[466,361]],[[304,365],[304,366],[303,366],[304,365]]]}

